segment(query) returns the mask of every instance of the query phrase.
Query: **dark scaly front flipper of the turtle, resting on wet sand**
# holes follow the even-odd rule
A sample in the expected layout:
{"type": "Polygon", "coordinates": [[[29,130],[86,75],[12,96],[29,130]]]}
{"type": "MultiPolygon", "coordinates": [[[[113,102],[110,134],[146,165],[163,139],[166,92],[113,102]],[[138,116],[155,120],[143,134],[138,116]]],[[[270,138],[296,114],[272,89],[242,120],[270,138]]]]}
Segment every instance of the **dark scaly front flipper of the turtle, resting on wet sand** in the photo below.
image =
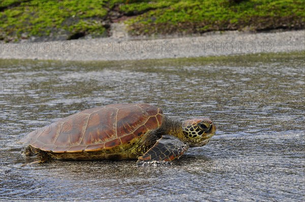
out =
{"type": "Polygon", "coordinates": [[[138,157],[137,165],[151,163],[162,164],[179,158],[188,149],[188,145],[178,138],[165,135],[157,141],[143,156],[138,157]]]}

